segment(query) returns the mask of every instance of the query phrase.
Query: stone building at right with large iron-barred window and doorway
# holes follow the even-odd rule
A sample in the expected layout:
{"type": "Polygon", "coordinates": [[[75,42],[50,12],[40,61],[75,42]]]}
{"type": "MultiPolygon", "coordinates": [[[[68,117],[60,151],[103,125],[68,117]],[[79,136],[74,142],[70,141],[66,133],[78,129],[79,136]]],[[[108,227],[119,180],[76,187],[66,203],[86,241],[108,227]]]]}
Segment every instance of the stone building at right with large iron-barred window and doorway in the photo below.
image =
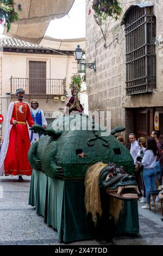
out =
{"type": "Polygon", "coordinates": [[[161,37],[163,38],[163,2],[161,0],[121,0],[120,3],[123,10],[122,16],[117,21],[112,18],[106,20],[102,26],[102,33],[93,17],[92,1],[86,1],[86,62],[90,63],[94,60],[96,62],[96,71],[86,69],[86,80],[89,85],[89,111],[111,111],[111,127],[126,126],[126,131],[122,135],[128,142],[130,132],[135,132],[137,137],[148,137],[155,128],[160,129],[163,135],[163,44],[161,43],[161,37]],[[126,64],[132,62],[132,60],[128,61],[127,59],[129,42],[127,41],[126,28],[128,16],[131,17],[135,8],[137,8],[138,14],[136,15],[138,16],[133,16],[133,19],[137,19],[133,31],[136,31],[136,26],[145,26],[146,29],[141,33],[137,30],[138,34],[135,32],[135,37],[132,35],[129,38],[131,47],[137,47],[133,54],[137,54],[141,48],[136,46],[136,44],[139,45],[136,40],[140,40],[141,36],[145,36],[149,44],[146,44],[147,47],[145,44],[142,46],[142,48],[147,49],[145,50],[146,56],[135,57],[136,60],[134,61],[137,64],[133,71],[130,68],[128,70],[126,64]],[[142,16],[144,22],[141,21],[139,15],[142,16]],[[149,18],[151,20],[148,23],[149,18]],[[147,23],[153,27],[149,27],[146,25],[147,23]],[[149,35],[152,36],[150,39],[152,44],[149,35]],[[159,47],[155,45],[157,36],[160,36],[159,47]],[[149,53],[148,46],[151,47],[151,45],[153,47],[151,48],[153,59],[149,59],[152,54],[149,53]],[[145,59],[144,64],[140,62],[140,59],[143,58],[145,59]],[[141,84],[140,74],[136,73],[137,70],[141,71],[141,69],[145,73],[147,72],[146,75],[143,75],[147,81],[146,86],[141,84]],[[152,72],[154,72],[153,78],[151,78],[152,72]],[[133,76],[132,81],[129,80],[129,76],[133,76]],[[131,86],[130,82],[127,83],[127,81],[131,81],[134,86],[131,86]],[[138,86],[135,86],[136,83],[138,86]],[[126,89],[128,84],[134,89],[126,89]],[[159,118],[158,124],[154,119],[156,115],[159,118]]]}

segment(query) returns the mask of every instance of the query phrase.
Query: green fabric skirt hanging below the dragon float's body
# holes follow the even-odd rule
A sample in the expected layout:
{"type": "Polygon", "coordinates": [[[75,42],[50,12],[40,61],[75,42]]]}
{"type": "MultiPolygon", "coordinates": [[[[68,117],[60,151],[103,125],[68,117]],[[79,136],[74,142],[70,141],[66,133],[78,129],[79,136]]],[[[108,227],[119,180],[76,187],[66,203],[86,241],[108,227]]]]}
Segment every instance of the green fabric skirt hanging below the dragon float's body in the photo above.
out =
{"type": "Polygon", "coordinates": [[[109,216],[109,196],[101,191],[103,214],[97,224],[86,215],[84,180],[54,179],[33,169],[29,205],[36,214],[58,232],[61,242],[90,239],[109,239],[117,235],[139,234],[137,200],[125,201],[123,211],[115,224],[109,216]]]}

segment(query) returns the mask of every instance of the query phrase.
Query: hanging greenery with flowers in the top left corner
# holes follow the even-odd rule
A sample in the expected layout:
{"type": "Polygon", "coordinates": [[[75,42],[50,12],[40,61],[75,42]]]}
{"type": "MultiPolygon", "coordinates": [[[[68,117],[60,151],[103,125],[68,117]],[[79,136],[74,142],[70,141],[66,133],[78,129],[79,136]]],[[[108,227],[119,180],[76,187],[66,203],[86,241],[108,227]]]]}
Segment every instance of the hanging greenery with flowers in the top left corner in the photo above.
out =
{"type": "Polygon", "coordinates": [[[22,10],[21,4],[16,4],[14,0],[0,0],[0,24],[7,26],[7,32],[11,28],[11,23],[18,19],[16,6],[18,11],[22,10]]]}

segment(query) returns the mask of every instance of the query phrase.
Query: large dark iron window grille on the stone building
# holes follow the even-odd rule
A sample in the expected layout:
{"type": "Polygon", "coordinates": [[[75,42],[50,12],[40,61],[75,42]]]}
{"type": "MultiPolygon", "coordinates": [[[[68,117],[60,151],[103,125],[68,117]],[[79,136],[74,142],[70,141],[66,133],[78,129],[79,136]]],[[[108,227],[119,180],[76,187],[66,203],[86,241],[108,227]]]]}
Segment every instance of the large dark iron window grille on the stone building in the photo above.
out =
{"type": "Polygon", "coordinates": [[[133,7],[125,17],[127,95],[156,87],[155,31],[152,7],[133,7]]]}

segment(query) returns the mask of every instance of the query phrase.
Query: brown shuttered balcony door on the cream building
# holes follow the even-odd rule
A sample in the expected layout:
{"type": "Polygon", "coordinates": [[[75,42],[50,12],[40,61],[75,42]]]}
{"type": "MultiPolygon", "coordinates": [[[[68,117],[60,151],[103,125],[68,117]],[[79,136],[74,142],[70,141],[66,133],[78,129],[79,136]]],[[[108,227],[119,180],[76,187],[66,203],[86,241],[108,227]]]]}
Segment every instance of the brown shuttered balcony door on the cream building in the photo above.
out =
{"type": "Polygon", "coordinates": [[[46,94],[46,62],[29,61],[29,93],[46,94]]]}

